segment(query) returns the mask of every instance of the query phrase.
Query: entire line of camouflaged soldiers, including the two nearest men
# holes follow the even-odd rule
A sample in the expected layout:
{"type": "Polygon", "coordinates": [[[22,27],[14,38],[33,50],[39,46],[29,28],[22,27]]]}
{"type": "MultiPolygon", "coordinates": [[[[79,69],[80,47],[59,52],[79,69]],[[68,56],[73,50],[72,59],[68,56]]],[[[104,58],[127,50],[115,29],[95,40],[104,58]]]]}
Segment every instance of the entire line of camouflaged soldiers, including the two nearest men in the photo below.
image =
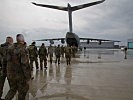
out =
{"type": "Polygon", "coordinates": [[[25,96],[29,90],[29,81],[33,70],[33,62],[36,69],[39,69],[38,56],[40,59],[40,70],[47,69],[47,59],[49,57],[50,64],[53,62],[53,54],[55,54],[55,63],[60,64],[60,57],[66,57],[67,65],[71,63],[71,56],[75,57],[76,47],[66,47],[58,45],[47,48],[45,44],[36,47],[36,43],[32,42],[27,47],[22,34],[16,35],[16,43],[13,43],[12,37],[7,37],[6,42],[0,46],[0,100],[12,100],[16,92],[18,92],[18,100],[25,100],[25,96]],[[44,67],[43,67],[44,65],[44,67]],[[3,87],[5,79],[8,79],[10,90],[5,99],[2,99],[3,87]]]}

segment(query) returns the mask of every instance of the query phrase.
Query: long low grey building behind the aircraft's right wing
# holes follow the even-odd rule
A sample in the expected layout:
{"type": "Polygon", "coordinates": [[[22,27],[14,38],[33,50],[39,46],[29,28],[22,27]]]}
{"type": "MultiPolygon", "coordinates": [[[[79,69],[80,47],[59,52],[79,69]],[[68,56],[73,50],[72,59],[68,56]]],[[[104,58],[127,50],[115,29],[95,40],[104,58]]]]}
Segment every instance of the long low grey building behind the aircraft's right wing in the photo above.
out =
{"type": "Polygon", "coordinates": [[[119,48],[119,46],[115,46],[114,42],[112,41],[106,41],[106,42],[101,42],[101,44],[99,44],[99,42],[81,42],[81,47],[84,48],[107,48],[107,49],[114,49],[114,48],[119,48]]]}

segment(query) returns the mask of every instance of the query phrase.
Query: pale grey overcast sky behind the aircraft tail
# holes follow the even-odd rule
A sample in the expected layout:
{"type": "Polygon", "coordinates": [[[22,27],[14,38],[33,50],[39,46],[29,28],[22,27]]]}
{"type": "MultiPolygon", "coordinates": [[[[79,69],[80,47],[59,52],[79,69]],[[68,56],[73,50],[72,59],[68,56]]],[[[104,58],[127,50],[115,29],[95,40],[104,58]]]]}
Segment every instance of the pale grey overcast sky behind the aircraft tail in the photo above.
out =
{"type": "MultiPolygon", "coordinates": [[[[25,40],[65,37],[68,14],[65,11],[38,7],[31,2],[76,6],[98,0],[0,0],[0,43],[6,36],[15,39],[23,33],[25,40]]],[[[133,38],[133,0],[106,0],[73,12],[73,31],[79,37],[120,40],[133,38]]]]}

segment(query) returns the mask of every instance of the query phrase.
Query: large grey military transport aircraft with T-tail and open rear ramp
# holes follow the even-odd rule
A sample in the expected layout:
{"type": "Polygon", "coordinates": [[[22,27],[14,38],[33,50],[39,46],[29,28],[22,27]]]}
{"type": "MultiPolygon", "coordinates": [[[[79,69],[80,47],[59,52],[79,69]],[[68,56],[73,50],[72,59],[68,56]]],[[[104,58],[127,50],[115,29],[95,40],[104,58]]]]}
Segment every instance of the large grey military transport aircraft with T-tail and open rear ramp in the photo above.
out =
{"type": "MultiPolygon", "coordinates": [[[[93,39],[93,38],[79,38],[79,36],[75,33],[73,33],[73,28],[72,28],[72,12],[82,9],[82,8],[86,8],[86,7],[90,7],[96,4],[100,4],[102,2],[104,2],[105,0],[101,0],[101,1],[96,1],[96,2],[91,2],[91,3],[87,3],[87,4],[82,4],[82,5],[78,5],[78,6],[73,6],[71,7],[71,5],[68,3],[67,7],[62,7],[62,6],[53,6],[53,5],[45,5],[45,4],[37,4],[32,2],[32,4],[36,5],[36,6],[41,6],[41,7],[47,7],[47,8],[52,8],[52,9],[57,9],[57,10],[62,10],[62,11],[67,11],[68,15],[69,15],[69,32],[66,33],[66,37],[65,38],[54,38],[54,39],[40,39],[40,40],[36,40],[36,41],[50,41],[51,44],[54,43],[53,40],[61,40],[61,43],[66,43],[69,44],[70,46],[79,46],[80,45],[80,40],[87,40],[87,43],[90,42],[90,40],[96,40],[99,41],[99,44],[101,44],[102,41],[113,41],[113,40],[105,40],[105,39],[93,39]]],[[[114,41],[117,42],[117,41],[114,41]]]]}

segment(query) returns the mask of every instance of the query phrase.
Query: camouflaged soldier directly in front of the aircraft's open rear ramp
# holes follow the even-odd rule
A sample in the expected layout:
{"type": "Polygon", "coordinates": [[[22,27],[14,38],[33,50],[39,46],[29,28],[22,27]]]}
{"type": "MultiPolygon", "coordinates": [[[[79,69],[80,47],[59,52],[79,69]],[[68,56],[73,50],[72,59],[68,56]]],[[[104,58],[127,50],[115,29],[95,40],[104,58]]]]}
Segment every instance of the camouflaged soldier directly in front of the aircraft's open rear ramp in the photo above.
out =
{"type": "Polygon", "coordinates": [[[66,62],[67,65],[70,65],[71,62],[71,53],[72,53],[72,49],[69,45],[67,45],[67,47],[65,48],[65,57],[66,57],[66,62]]]}

